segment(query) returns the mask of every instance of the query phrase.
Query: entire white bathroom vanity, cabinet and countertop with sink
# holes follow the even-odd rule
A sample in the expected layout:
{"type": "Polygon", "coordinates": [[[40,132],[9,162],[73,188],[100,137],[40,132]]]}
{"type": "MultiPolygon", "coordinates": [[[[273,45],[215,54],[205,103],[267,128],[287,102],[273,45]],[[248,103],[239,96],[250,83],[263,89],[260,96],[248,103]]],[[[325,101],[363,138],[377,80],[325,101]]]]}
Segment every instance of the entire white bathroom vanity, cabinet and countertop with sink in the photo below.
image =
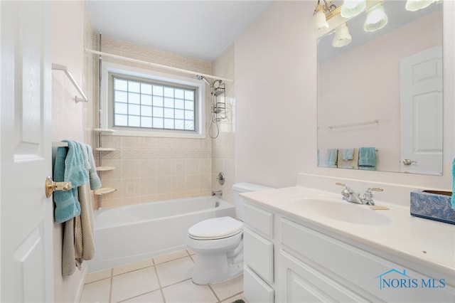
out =
{"type": "Polygon", "coordinates": [[[249,303],[455,302],[455,225],[301,186],[242,196],[249,303]]]}

